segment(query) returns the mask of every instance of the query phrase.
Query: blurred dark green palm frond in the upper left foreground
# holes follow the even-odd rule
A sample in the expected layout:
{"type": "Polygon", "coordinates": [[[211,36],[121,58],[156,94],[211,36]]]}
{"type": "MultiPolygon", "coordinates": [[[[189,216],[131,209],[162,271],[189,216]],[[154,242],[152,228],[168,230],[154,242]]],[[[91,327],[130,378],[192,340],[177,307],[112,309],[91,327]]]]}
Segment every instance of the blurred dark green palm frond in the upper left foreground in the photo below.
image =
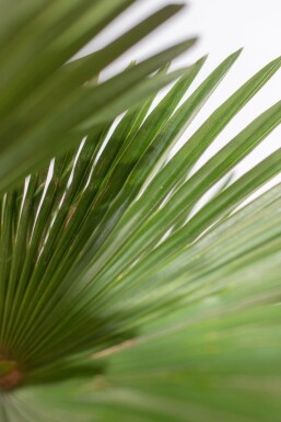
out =
{"type": "Polygon", "coordinates": [[[69,61],[134,2],[28,0],[24,7],[19,2],[13,11],[9,1],[1,3],[1,14],[10,18],[0,32],[1,192],[54,153],[75,147],[85,130],[98,132],[101,124],[183,73],[150,78],[195,39],[167,48],[109,80],[89,83],[177,13],[178,4],[156,11],[92,55],[69,61]]]}

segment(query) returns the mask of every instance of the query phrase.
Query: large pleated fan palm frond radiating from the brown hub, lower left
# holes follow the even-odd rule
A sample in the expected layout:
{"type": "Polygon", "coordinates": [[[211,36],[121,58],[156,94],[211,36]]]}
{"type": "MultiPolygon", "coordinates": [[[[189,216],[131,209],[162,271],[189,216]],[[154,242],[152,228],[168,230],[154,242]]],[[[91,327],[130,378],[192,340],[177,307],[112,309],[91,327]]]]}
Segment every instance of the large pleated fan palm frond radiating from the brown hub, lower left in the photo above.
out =
{"type": "Polygon", "coordinates": [[[281,60],[169,155],[238,54],[179,107],[204,58],[2,195],[2,384],[21,384],[3,421],[278,421],[255,386],[279,385],[280,186],[236,209],[280,150],[190,210],[280,123],[277,103],[191,172],[281,60]]]}

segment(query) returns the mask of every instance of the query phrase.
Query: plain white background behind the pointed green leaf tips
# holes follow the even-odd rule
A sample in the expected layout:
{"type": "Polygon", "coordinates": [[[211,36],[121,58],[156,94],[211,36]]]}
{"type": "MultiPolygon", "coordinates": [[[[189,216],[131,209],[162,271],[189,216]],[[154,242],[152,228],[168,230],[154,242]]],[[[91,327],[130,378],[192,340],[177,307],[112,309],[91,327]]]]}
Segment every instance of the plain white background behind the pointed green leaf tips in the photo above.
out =
{"type": "MultiPolygon", "coordinates": [[[[99,48],[112,39],[113,34],[122,33],[151,11],[167,3],[169,1],[166,0],[140,0],[137,5],[126,12],[122,19],[118,19],[109,31],[101,34],[94,43],[87,46],[84,53],[99,48]]],[[[209,54],[204,69],[192,85],[195,88],[227,55],[244,47],[244,52],[224,81],[190,125],[185,135],[185,139],[187,139],[210,113],[243,82],[262,66],[281,55],[280,20],[281,0],[189,0],[186,9],[119,59],[114,69],[108,71],[108,75],[124,68],[130,59],[145,58],[162,47],[183,41],[188,36],[198,35],[199,42],[196,47],[183,55],[174,65],[176,67],[186,66],[202,55],[209,54]]],[[[201,162],[227,142],[259,113],[279,101],[281,99],[280,87],[281,70],[231,122],[201,162]]],[[[280,146],[281,127],[277,128],[262,145],[238,166],[237,174],[242,174],[280,146]]]]}

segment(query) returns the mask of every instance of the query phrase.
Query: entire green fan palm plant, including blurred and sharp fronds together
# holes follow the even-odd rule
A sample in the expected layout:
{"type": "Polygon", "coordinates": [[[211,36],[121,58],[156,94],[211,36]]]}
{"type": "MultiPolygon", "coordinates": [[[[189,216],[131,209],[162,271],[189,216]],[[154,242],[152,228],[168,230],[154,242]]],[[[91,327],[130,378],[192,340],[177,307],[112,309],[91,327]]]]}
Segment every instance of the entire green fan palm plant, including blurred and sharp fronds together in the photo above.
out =
{"type": "Polygon", "coordinates": [[[132,2],[1,3],[1,422],[278,422],[281,186],[245,199],[281,150],[230,175],[281,102],[197,163],[281,59],[171,155],[241,52],[191,91],[206,58],[168,62],[195,39],[98,83],[180,10],[69,61],[132,2]]]}

